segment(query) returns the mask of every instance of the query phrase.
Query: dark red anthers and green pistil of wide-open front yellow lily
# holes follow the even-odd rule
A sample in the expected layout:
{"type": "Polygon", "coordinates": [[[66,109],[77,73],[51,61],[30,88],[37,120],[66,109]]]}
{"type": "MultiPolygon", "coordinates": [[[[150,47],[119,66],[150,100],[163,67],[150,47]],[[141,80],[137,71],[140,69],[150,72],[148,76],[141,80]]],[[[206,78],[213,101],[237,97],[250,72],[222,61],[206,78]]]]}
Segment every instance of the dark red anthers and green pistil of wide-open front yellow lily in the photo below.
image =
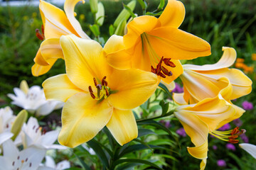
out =
{"type": "Polygon", "coordinates": [[[101,100],[103,98],[107,98],[108,96],[110,96],[110,88],[107,86],[106,78],[107,77],[103,77],[103,79],[100,83],[98,83],[97,80],[95,78],[93,78],[95,87],[97,88],[97,94],[95,94],[92,91],[92,86],[88,87],[90,96],[92,96],[93,99],[101,100]]]}

